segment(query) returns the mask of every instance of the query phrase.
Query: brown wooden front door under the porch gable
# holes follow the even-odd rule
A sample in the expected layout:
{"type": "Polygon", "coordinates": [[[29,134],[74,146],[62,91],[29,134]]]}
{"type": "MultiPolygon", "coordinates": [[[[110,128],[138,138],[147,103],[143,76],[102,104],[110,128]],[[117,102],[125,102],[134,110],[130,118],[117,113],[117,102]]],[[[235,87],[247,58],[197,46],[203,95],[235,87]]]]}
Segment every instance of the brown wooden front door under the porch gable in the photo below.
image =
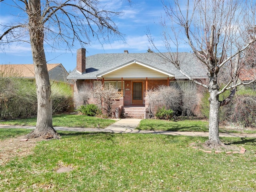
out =
{"type": "Polygon", "coordinates": [[[132,82],[132,104],[142,105],[143,104],[143,82],[132,82]]]}

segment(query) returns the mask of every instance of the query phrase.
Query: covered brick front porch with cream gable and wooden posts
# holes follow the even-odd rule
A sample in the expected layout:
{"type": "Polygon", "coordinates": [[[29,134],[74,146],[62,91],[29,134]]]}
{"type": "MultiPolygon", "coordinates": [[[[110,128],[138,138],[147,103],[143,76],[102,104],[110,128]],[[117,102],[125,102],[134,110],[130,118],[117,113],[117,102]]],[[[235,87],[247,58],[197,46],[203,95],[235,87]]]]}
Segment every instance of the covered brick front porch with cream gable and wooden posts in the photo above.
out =
{"type": "Polygon", "coordinates": [[[102,84],[113,84],[118,88],[114,99],[122,106],[145,106],[146,91],[159,85],[169,85],[174,74],[133,60],[122,66],[97,75],[102,84]]]}

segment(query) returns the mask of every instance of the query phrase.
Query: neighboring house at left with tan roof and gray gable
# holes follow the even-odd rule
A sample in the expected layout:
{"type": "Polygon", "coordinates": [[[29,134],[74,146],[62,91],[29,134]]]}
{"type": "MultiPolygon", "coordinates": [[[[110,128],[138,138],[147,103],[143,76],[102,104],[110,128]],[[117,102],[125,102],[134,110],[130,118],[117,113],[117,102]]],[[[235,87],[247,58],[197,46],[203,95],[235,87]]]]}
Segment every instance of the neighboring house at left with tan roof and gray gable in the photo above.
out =
{"type": "MultiPolygon", "coordinates": [[[[68,72],[62,64],[47,64],[49,78],[52,81],[66,82],[74,84],[73,80],[67,80],[68,72]]],[[[0,71],[4,71],[7,75],[15,74],[23,78],[35,80],[34,64],[6,64],[0,65],[0,71]]]]}

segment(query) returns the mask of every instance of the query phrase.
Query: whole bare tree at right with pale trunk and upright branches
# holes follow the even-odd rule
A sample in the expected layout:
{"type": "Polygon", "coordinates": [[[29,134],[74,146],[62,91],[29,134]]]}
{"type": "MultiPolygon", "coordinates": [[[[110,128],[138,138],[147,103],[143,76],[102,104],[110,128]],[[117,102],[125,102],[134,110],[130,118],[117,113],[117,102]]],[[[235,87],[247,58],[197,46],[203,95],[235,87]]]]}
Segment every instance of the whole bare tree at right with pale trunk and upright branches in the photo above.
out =
{"type": "MultiPolygon", "coordinates": [[[[256,2],[253,0],[190,0],[179,2],[162,1],[166,17],[160,22],[163,26],[163,42],[169,52],[161,54],[154,39],[149,33],[152,49],[160,52],[162,58],[174,64],[189,80],[208,89],[210,93],[209,139],[206,144],[211,147],[223,145],[219,138],[219,110],[220,106],[230,102],[241,84],[250,84],[254,80],[244,83],[238,82],[239,72],[252,44],[256,42],[255,31],[248,35],[256,22],[256,2]],[[186,66],[182,66],[179,57],[179,46],[188,44],[191,51],[208,71],[208,83],[204,84],[192,78],[186,66]],[[174,51],[173,51],[174,50],[174,51]],[[174,54],[176,52],[176,54],[174,54]],[[218,73],[227,70],[227,83],[218,82],[218,73]],[[230,90],[230,96],[223,101],[219,95],[230,90]]],[[[255,68],[255,66],[254,66],[255,68]]]]}

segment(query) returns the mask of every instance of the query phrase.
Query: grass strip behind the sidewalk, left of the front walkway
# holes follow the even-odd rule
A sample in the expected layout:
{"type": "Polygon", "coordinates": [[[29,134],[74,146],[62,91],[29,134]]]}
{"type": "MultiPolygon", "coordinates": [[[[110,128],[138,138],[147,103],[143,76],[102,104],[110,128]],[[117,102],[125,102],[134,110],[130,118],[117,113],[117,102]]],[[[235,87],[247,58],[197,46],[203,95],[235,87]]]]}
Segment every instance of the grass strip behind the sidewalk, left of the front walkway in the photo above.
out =
{"type": "MultiPolygon", "coordinates": [[[[101,128],[105,128],[116,122],[111,119],[102,119],[97,117],[90,117],[76,114],[62,114],[53,115],[52,124],[54,127],[84,127],[84,128],[96,128],[100,124],[101,128]]],[[[36,126],[35,118],[14,119],[7,121],[0,121],[0,124],[6,125],[20,125],[20,126],[36,126]]]]}

